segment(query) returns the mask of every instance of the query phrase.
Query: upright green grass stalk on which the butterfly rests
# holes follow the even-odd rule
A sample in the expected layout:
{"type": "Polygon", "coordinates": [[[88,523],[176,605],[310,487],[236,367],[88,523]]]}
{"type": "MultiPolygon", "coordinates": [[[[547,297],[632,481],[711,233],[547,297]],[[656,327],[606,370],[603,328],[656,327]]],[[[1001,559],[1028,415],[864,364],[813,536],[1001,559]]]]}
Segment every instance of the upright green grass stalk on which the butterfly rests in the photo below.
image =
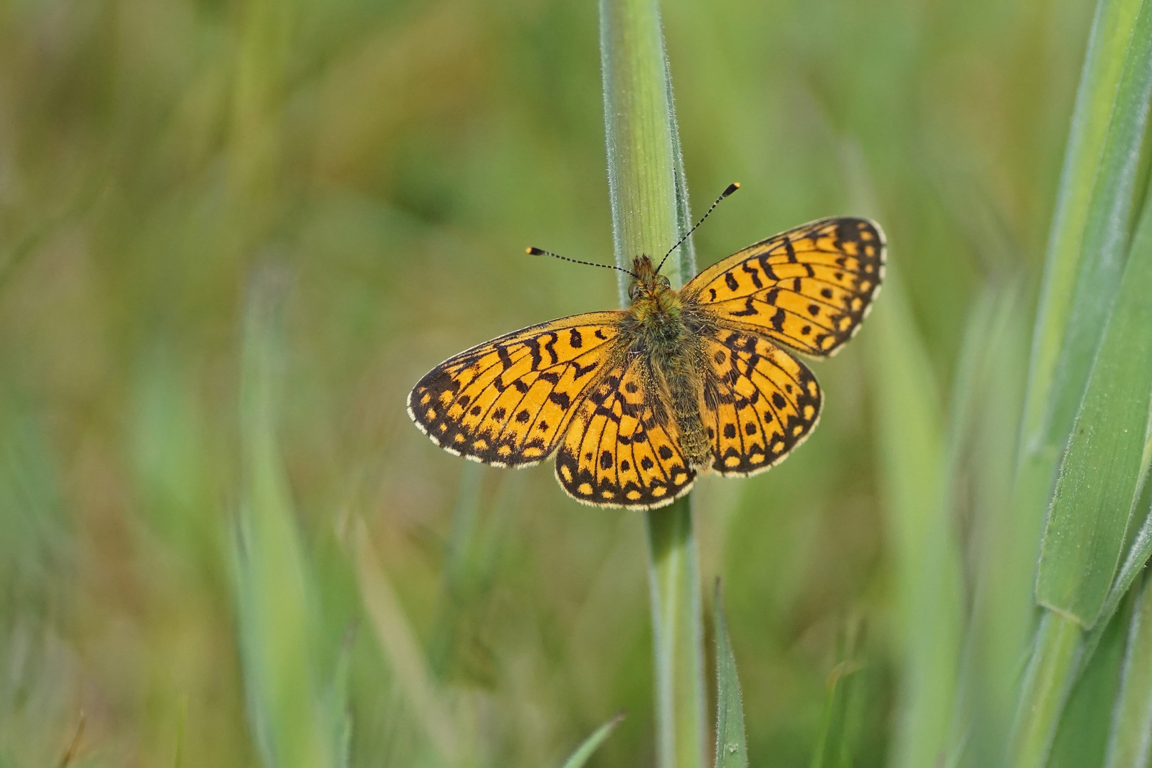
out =
{"type": "MultiPolygon", "coordinates": [[[[672,84],[657,0],[600,1],[600,60],[616,264],[659,257],[688,220],[672,84]]],[[[691,245],[668,259],[676,288],[695,271],[691,245]]],[[[620,276],[620,301],[628,305],[620,276]]],[[[660,768],[705,765],[700,580],[691,502],[646,512],[660,768]]]]}

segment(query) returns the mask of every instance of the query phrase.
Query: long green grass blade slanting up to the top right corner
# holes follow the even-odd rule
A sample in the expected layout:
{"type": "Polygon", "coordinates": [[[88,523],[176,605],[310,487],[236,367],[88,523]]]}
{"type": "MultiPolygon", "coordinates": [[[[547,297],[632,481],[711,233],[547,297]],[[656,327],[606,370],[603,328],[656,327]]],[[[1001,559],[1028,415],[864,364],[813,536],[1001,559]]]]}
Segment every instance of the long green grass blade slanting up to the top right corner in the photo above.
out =
{"type": "Polygon", "coordinates": [[[1138,20],[1147,13],[1145,6],[1143,0],[1100,0],[1092,23],[1033,334],[1013,492],[1013,504],[1022,515],[1047,511],[1051,504],[1056,467],[1102,326],[1097,313],[1111,306],[1113,275],[1119,275],[1115,251],[1127,242],[1131,184],[1138,175],[1135,168],[1144,130],[1138,123],[1146,122],[1146,109],[1135,98],[1140,90],[1140,62],[1129,55],[1131,46],[1146,44],[1136,35],[1138,20]],[[1127,116],[1121,108],[1126,106],[1127,116]],[[1105,242],[1109,243],[1107,253],[1105,242]],[[1094,296],[1089,286],[1094,286],[1094,296]],[[1077,309],[1078,304],[1090,306],[1077,309]],[[1078,327],[1070,330],[1074,314],[1078,327]],[[1081,349],[1066,347],[1066,336],[1081,349]],[[1073,362],[1079,367],[1074,370],[1073,362]]]}

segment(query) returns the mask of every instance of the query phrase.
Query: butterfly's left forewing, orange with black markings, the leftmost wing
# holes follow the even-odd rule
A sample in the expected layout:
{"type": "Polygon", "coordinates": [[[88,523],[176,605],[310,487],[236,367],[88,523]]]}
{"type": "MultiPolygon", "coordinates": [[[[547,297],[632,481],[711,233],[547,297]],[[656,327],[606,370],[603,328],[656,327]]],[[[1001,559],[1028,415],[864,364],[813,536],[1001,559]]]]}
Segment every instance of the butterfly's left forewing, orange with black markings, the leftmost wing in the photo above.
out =
{"type": "Polygon", "coordinates": [[[555,448],[601,378],[623,312],[530,326],[450,357],[408,395],[408,415],[445,450],[494,466],[531,466],[555,448]]]}

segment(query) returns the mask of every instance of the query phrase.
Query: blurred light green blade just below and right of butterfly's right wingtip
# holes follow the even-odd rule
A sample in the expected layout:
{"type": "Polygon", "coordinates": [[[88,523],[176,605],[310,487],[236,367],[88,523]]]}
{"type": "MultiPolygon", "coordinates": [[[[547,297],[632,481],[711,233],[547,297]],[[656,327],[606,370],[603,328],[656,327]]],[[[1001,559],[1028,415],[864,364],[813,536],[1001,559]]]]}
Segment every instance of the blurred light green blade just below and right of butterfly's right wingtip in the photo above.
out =
{"type": "Polygon", "coordinates": [[[945,754],[960,666],[960,558],[945,503],[942,418],[931,364],[888,271],[870,319],[885,524],[895,561],[900,692],[892,765],[945,754]]]}

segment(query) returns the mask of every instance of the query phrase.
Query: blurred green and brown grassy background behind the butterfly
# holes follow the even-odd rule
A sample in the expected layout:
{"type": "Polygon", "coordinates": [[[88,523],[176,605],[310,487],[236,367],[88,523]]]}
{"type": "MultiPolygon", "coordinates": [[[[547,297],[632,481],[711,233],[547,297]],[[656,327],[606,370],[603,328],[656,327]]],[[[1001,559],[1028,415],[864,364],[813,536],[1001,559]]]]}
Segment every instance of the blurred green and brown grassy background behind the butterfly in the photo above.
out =
{"type": "MultiPolygon", "coordinates": [[[[697,212],[743,184],[700,267],[877,218],[940,413],[1009,296],[1024,342],[982,375],[1010,461],[1092,3],[662,9],[697,212]]],[[[0,766],[82,729],[77,765],[543,767],[620,709],[592,765],[653,765],[642,517],[403,408],[465,347],[615,304],[523,252],[611,261],[599,62],[591,1],[0,0],[0,766]]],[[[694,494],[753,765],[809,763],[847,636],[854,765],[890,756],[916,575],[873,325],[813,366],[802,449],[694,494]]]]}

